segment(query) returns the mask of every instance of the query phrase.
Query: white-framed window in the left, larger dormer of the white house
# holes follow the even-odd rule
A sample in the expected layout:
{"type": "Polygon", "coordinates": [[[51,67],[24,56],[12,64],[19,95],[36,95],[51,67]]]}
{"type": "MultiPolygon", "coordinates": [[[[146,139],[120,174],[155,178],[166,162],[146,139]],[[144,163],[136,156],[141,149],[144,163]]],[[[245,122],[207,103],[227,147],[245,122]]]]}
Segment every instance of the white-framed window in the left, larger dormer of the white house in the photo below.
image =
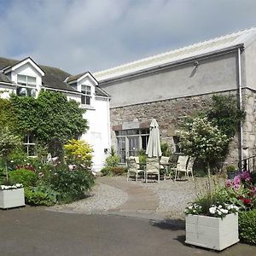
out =
{"type": "Polygon", "coordinates": [[[18,74],[17,84],[20,85],[16,90],[18,96],[36,96],[36,78],[18,74]]]}

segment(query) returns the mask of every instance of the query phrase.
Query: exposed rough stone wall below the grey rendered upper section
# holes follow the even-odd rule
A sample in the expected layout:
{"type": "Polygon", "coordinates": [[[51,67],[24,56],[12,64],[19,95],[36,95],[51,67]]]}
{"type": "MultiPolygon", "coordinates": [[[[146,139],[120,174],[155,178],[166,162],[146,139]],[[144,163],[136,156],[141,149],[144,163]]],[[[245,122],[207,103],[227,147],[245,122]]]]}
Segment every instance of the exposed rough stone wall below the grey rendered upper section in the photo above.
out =
{"type": "MultiPolygon", "coordinates": [[[[236,94],[236,90],[221,92],[218,94],[236,94]]],[[[112,125],[112,144],[116,144],[114,130],[121,130],[124,124],[140,124],[141,127],[145,124],[150,124],[151,119],[156,119],[160,125],[161,142],[168,143],[173,148],[172,137],[176,135],[178,126],[183,119],[206,108],[211,102],[212,94],[201,96],[188,96],[172,100],[160,102],[142,103],[131,106],[111,108],[110,120],[112,125]]],[[[252,101],[252,100],[251,100],[252,101]]],[[[131,125],[132,126],[132,125],[131,125]]],[[[254,133],[255,134],[255,133],[254,133]]],[[[236,164],[238,160],[238,140],[234,138],[230,143],[230,154],[227,157],[227,162],[236,164]]]]}

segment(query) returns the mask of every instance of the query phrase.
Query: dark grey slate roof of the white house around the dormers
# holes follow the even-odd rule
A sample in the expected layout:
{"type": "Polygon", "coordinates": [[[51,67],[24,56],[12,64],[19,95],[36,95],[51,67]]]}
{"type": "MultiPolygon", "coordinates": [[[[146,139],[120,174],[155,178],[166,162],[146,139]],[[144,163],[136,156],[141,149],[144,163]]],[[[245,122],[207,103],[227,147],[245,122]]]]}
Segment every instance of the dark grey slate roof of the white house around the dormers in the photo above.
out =
{"type": "MultiPolygon", "coordinates": [[[[20,61],[17,61],[17,60],[0,57],[0,70],[2,70],[5,67],[15,66],[19,62],[20,61]]],[[[60,68],[48,67],[43,65],[38,65],[38,66],[45,73],[45,75],[42,77],[42,83],[44,87],[48,87],[56,90],[68,90],[71,92],[78,92],[78,90],[73,89],[73,87],[67,84],[67,82],[64,82],[64,80],[67,79],[67,77],[68,79],[72,78],[70,79],[70,81],[79,79],[79,77],[84,75],[84,73],[72,76],[70,73],[63,71],[60,68]]],[[[0,82],[11,83],[11,80],[4,73],[0,73],[0,82]]],[[[96,95],[108,96],[108,93],[106,93],[104,90],[96,86],[96,95]]]]}

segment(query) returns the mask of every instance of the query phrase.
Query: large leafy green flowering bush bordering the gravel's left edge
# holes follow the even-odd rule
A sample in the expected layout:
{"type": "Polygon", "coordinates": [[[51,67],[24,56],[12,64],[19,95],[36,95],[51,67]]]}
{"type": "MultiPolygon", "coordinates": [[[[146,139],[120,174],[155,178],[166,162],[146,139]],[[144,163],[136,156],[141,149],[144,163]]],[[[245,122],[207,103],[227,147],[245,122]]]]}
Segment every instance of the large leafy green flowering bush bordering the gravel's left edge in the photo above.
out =
{"type": "Polygon", "coordinates": [[[73,171],[68,166],[56,166],[50,177],[52,189],[57,191],[59,202],[71,202],[84,198],[84,193],[91,189],[94,177],[90,171],[76,167],[73,171]]]}

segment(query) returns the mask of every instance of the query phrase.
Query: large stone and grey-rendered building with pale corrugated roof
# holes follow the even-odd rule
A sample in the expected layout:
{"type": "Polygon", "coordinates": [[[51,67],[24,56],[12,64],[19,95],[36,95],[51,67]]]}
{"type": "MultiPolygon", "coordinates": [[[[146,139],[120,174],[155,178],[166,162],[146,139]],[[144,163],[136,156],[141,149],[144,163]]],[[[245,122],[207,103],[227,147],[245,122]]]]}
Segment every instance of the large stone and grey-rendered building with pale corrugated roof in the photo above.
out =
{"type": "Polygon", "coordinates": [[[177,125],[213,94],[234,94],[246,121],[230,145],[228,161],[255,153],[256,28],[213,38],[164,54],[94,73],[111,95],[112,143],[122,161],[146,148],[150,120],[161,141],[178,152],[177,125]]]}

